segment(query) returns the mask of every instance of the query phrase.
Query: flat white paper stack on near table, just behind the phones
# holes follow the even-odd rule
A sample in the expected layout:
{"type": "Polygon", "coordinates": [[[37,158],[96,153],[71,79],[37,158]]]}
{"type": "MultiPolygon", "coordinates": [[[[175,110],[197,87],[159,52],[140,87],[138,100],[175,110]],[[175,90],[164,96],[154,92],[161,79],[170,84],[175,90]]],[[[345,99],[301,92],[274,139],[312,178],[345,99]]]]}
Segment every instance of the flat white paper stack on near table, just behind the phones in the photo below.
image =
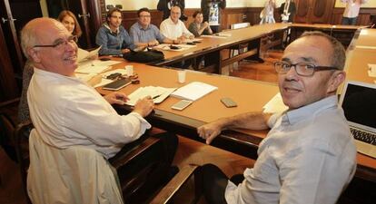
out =
{"type": "Polygon", "coordinates": [[[196,101],[197,99],[200,99],[204,95],[208,94],[209,92],[213,92],[216,89],[218,89],[218,87],[207,83],[193,82],[179,88],[171,95],[180,99],[196,101]]]}

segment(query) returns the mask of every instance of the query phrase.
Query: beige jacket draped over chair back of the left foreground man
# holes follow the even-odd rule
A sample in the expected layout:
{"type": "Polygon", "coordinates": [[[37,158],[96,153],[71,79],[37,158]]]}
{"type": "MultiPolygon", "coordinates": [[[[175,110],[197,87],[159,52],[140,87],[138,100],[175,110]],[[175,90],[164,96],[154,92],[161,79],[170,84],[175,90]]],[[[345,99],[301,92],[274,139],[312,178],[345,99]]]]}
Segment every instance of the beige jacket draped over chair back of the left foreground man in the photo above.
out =
{"type": "Polygon", "coordinates": [[[124,203],[117,174],[103,155],[84,146],[58,149],[31,131],[27,191],[33,203],[124,203]]]}

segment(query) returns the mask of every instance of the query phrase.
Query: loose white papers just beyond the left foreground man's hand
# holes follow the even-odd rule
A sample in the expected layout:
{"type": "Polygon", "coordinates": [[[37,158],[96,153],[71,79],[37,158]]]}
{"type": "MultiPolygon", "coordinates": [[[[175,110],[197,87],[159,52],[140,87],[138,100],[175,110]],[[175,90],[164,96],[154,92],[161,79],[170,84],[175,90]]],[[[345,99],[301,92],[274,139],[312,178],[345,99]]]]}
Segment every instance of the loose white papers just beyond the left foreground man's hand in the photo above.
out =
{"type": "Polygon", "coordinates": [[[150,96],[152,98],[156,97],[153,99],[153,102],[156,104],[161,103],[175,90],[176,88],[164,88],[161,86],[140,87],[128,95],[129,101],[125,102],[125,104],[134,106],[138,100],[143,99],[146,96],[150,96]]]}

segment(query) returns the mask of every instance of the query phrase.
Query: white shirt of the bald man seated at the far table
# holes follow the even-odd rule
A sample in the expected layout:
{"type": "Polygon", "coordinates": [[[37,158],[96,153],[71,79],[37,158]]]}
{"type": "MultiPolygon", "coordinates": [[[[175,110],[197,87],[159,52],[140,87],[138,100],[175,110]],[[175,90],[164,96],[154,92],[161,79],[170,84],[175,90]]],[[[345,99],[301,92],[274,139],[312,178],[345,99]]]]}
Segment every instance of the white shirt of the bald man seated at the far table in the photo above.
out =
{"type": "Polygon", "coordinates": [[[193,35],[191,32],[188,31],[188,29],[185,27],[185,24],[178,20],[177,24],[173,23],[173,20],[171,20],[171,17],[165,19],[161,25],[160,25],[161,33],[172,40],[176,40],[178,37],[181,37],[182,35],[184,37],[189,37],[193,35]]]}

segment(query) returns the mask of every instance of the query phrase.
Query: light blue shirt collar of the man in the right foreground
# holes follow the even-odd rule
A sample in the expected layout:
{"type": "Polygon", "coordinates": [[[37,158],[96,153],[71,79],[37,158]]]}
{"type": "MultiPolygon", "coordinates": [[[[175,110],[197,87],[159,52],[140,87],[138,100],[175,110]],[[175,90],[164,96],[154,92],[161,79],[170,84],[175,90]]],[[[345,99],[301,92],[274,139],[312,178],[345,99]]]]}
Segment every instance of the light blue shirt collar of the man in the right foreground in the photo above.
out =
{"type": "Polygon", "coordinates": [[[315,114],[316,112],[322,112],[322,110],[336,107],[337,104],[338,104],[337,96],[332,95],[318,102],[313,102],[311,104],[305,105],[299,109],[287,111],[282,116],[282,122],[295,124],[299,121],[312,117],[312,115],[315,114]]]}

